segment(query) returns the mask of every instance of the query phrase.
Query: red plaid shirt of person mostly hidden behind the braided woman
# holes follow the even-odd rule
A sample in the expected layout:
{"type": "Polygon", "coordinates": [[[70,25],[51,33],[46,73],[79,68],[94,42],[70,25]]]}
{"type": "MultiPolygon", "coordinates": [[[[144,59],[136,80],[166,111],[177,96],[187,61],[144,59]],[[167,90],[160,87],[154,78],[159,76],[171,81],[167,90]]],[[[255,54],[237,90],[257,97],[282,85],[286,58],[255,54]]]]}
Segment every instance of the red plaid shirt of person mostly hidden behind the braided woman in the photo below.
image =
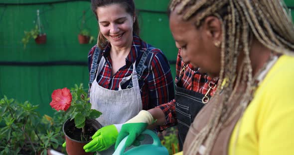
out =
{"type": "MultiPolygon", "coordinates": [[[[180,71],[183,65],[184,63],[182,62],[182,58],[180,56],[180,50],[178,50],[178,55],[176,59],[175,83],[178,82],[180,71]]],[[[208,77],[205,74],[200,74],[192,68],[192,65],[189,64],[189,67],[185,69],[183,76],[180,79],[180,85],[177,84],[177,86],[205,94],[209,89],[209,82],[212,81],[213,83],[216,83],[217,78],[212,79],[211,77],[208,77]]],[[[210,90],[210,96],[214,94],[215,90],[216,88],[210,90]]],[[[177,124],[175,112],[175,99],[165,104],[159,105],[157,107],[159,107],[164,112],[166,118],[165,124],[163,126],[160,126],[160,131],[171,126],[175,126],[177,124]]]]}

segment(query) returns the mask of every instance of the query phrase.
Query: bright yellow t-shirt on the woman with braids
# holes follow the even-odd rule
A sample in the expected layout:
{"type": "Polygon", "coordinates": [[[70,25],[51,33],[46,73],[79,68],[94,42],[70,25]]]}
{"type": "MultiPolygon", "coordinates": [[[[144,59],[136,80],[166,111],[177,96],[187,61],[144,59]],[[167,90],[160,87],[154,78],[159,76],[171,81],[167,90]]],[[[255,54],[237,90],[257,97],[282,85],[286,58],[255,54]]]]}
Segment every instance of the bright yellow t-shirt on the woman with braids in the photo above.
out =
{"type": "Polygon", "coordinates": [[[256,90],[229,155],[294,155],[294,57],[281,56],[256,90]]]}

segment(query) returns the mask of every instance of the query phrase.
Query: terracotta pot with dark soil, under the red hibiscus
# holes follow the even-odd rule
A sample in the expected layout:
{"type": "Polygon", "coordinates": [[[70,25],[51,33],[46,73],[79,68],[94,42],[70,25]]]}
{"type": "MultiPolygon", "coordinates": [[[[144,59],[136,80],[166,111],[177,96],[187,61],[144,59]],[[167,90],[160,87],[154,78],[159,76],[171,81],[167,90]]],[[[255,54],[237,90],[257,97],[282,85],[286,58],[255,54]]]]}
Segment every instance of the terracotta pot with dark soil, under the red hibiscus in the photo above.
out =
{"type": "Polygon", "coordinates": [[[85,135],[87,142],[81,142],[82,129],[75,127],[74,120],[68,119],[63,124],[63,133],[65,135],[66,152],[68,155],[93,155],[93,153],[85,153],[83,147],[91,141],[91,137],[95,132],[100,129],[101,124],[95,119],[86,119],[85,122],[85,135]]]}

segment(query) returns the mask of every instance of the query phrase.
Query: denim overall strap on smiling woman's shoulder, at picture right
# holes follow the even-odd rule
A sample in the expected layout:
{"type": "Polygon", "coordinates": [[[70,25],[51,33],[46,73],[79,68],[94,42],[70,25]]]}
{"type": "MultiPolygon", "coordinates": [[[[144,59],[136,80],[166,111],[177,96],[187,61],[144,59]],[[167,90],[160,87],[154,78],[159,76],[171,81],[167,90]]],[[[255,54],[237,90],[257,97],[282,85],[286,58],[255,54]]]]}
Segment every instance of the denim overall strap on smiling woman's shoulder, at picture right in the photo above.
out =
{"type": "MultiPolygon", "coordinates": [[[[154,47],[148,47],[148,48],[146,49],[146,51],[144,51],[143,56],[141,57],[141,60],[140,60],[138,66],[137,66],[137,68],[136,68],[136,72],[137,72],[137,74],[138,74],[138,80],[141,79],[141,77],[142,77],[142,75],[143,75],[145,69],[147,69],[147,66],[145,65],[145,62],[146,62],[146,60],[147,60],[148,55],[151,54],[150,51],[153,50],[153,49],[155,49],[155,48],[154,48],[154,47]]],[[[131,88],[131,87],[133,87],[133,81],[132,81],[132,80],[131,80],[131,82],[129,83],[129,85],[127,86],[127,89],[128,89],[128,88],[131,88]]]]}

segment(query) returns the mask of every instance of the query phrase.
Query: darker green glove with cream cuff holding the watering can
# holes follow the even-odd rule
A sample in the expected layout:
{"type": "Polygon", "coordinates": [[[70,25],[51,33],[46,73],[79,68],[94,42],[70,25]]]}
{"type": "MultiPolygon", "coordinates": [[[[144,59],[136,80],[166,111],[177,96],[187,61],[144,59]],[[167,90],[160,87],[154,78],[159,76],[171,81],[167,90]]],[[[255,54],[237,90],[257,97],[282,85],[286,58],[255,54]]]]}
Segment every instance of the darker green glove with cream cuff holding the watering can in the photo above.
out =
{"type": "Polygon", "coordinates": [[[130,147],[131,145],[139,146],[140,142],[138,140],[144,139],[144,136],[140,136],[140,134],[145,131],[147,126],[151,125],[152,122],[152,115],[146,110],[141,110],[137,116],[122,125],[122,129],[116,141],[115,149],[117,149],[121,141],[126,136],[129,136],[126,141],[126,147],[130,147]]]}

